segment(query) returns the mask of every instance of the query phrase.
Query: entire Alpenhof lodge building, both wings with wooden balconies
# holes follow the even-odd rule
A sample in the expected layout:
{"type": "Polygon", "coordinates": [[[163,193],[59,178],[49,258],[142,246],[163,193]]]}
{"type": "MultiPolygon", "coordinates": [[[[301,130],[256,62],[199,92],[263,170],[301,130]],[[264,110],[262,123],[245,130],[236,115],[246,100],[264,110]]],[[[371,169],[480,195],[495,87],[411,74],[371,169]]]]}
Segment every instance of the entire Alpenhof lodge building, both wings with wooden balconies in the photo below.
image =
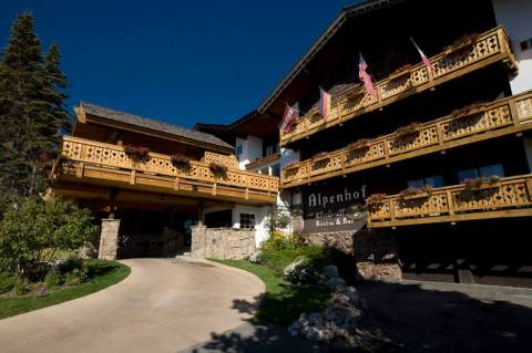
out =
{"type": "Polygon", "coordinates": [[[100,211],[111,257],[187,245],[244,256],[277,208],[291,215],[287,231],[351,253],[361,277],[532,287],[532,3],[433,7],[342,9],[260,105],[228,125],[183,129],[81,103],[55,191],[100,211]],[[377,96],[360,83],[359,53],[377,96]],[[327,116],[319,87],[331,95],[327,116]],[[295,103],[304,113],[279,132],[295,103]],[[135,162],[132,145],[150,152],[135,162]],[[186,168],[175,164],[183,156],[186,168]]]}

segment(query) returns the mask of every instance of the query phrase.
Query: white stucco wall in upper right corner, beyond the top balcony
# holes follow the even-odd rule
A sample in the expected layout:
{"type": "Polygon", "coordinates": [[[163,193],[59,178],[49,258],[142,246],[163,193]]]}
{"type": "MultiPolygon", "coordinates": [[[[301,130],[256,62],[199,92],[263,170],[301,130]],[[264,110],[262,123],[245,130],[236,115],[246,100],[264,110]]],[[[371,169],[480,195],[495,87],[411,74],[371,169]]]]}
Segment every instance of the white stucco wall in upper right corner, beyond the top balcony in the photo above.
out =
{"type": "Polygon", "coordinates": [[[519,63],[519,74],[511,77],[512,94],[532,90],[532,49],[521,51],[520,43],[532,38],[531,0],[493,0],[497,21],[502,24],[513,42],[519,63]]]}

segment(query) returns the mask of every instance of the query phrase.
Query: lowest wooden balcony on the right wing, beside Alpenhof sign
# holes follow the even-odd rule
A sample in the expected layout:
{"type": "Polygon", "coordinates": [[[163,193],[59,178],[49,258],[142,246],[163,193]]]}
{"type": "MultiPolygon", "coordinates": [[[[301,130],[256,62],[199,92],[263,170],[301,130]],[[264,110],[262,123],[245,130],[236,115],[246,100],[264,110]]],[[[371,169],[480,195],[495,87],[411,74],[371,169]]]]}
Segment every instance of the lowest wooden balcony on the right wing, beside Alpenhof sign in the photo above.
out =
{"type": "Polygon", "coordinates": [[[530,216],[532,175],[501,178],[477,188],[457,185],[368,203],[369,228],[530,216]]]}

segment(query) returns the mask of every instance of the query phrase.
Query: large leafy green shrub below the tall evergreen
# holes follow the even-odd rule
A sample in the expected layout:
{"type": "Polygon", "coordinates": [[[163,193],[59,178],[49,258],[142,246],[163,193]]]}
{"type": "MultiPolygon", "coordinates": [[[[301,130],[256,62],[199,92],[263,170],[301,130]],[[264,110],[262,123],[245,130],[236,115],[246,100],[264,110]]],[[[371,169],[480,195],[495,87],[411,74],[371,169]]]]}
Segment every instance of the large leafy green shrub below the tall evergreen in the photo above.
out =
{"type": "Polygon", "coordinates": [[[61,251],[73,251],[95,232],[88,210],[69,201],[28,199],[0,221],[0,262],[8,273],[42,279],[61,251]]]}

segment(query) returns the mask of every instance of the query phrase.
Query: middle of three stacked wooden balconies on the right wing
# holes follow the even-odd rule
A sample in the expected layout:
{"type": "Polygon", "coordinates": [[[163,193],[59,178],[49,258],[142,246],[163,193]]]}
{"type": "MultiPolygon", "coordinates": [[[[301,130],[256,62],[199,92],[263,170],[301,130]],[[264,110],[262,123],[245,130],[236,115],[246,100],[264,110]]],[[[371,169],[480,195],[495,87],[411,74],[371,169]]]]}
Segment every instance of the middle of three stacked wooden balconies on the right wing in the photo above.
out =
{"type": "Polygon", "coordinates": [[[532,128],[532,91],[392,133],[285,167],[283,187],[294,187],[532,128]]]}

